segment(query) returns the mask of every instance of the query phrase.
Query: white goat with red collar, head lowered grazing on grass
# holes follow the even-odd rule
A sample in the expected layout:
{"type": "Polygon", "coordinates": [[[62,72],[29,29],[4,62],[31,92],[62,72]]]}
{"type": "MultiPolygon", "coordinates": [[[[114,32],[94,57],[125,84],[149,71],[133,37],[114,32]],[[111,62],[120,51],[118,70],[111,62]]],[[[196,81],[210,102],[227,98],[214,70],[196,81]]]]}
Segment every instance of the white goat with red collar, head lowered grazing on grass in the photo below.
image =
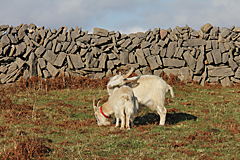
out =
{"type": "Polygon", "coordinates": [[[108,98],[108,101],[99,107],[100,100],[95,106],[95,98],[93,100],[93,108],[98,125],[110,125],[110,115],[115,113],[116,127],[119,126],[119,118],[121,119],[121,129],[130,129],[130,124],[133,125],[134,116],[137,113],[138,101],[134,96],[133,91],[128,86],[115,88],[108,98]]]}

